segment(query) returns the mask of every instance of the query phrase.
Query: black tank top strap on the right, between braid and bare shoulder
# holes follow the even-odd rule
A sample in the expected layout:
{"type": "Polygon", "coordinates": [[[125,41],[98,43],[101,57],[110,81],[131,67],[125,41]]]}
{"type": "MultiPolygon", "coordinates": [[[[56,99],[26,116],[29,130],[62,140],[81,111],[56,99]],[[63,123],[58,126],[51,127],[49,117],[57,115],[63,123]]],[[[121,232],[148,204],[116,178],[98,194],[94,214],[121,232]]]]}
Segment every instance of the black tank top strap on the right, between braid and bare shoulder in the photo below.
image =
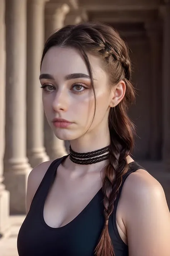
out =
{"type": "Polygon", "coordinates": [[[121,196],[121,192],[122,192],[122,188],[123,188],[123,185],[124,185],[124,182],[126,181],[126,179],[128,178],[128,176],[132,173],[132,172],[135,172],[139,169],[142,169],[142,170],[145,170],[145,168],[143,168],[141,165],[139,165],[137,162],[133,161],[131,163],[128,164],[129,166],[129,169],[127,171],[127,173],[123,176],[122,178],[122,184],[121,184],[121,187],[119,188],[119,192],[118,192],[118,195],[117,195],[117,198],[114,202],[114,209],[113,209],[113,215],[116,214],[116,210],[117,210],[117,206],[118,206],[118,202],[119,202],[119,199],[120,199],[120,196],[121,196]]]}

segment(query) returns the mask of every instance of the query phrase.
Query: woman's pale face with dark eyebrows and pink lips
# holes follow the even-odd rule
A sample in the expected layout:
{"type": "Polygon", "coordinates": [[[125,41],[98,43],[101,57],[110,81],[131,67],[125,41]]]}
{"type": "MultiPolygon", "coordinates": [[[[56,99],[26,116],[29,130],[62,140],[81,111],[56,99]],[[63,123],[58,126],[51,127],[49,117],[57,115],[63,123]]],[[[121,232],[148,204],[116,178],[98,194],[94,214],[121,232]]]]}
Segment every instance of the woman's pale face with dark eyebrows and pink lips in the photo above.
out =
{"type": "Polygon", "coordinates": [[[113,98],[108,75],[102,68],[100,58],[91,54],[88,57],[96,96],[94,120],[94,93],[88,69],[79,52],[55,46],[47,51],[42,62],[40,82],[43,86],[43,107],[49,125],[61,140],[74,140],[86,132],[93,136],[100,126],[108,126],[113,98]]]}

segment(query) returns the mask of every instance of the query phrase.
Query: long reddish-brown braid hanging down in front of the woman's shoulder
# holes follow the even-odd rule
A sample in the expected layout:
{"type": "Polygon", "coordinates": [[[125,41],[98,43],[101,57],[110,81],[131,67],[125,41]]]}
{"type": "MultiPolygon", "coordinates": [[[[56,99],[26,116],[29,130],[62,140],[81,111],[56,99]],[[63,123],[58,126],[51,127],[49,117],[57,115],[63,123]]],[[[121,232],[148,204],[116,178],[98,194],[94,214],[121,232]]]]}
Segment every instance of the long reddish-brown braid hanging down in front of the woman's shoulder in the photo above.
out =
{"type": "MultiPolygon", "coordinates": [[[[108,220],[113,212],[114,202],[117,198],[119,188],[122,184],[122,177],[128,171],[126,157],[129,155],[132,146],[130,145],[129,147],[128,144],[129,141],[131,141],[132,143],[131,130],[134,130],[134,127],[132,126],[129,118],[126,118],[124,114],[121,113],[120,109],[117,109],[117,111],[119,112],[119,118],[114,116],[114,124],[113,122],[109,123],[111,140],[110,155],[108,166],[105,169],[105,178],[103,181],[105,225],[103,232],[100,236],[99,243],[95,249],[96,256],[114,255],[114,248],[109,236],[108,220]],[[124,118],[126,118],[126,120],[124,120],[124,118]],[[121,127],[121,131],[119,130],[119,134],[117,133],[117,129],[115,129],[115,126],[121,127]],[[129,129],[129,133],[126,132],[127,127],[129,129]],[[127,138],[126,141],[124,140],[124,138],[127,138]]],[[[111,109],[110,116],[113,117],[113,113],[114,110],[111,109]]]]}

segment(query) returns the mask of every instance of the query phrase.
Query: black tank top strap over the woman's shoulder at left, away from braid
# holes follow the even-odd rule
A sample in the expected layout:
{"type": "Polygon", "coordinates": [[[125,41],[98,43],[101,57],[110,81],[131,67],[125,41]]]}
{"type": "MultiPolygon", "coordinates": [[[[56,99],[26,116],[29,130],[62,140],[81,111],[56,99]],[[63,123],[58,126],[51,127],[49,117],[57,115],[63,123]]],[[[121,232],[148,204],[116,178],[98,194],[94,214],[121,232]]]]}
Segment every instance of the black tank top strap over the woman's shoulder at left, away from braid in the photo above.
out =
{"type": "Polygon", "coordinates": [[[47,196],[48,190],[52,185],[53,181],[55,180],[57,168],[66,157],[67,156],[63,156],[61,158],[54,160],[48,167],[41,183],[39,184],[39,187],[37,188],[36,193],[34,194],[30,208],[32,207],[32,205],[41,204],[44,197],[47,196]]]}

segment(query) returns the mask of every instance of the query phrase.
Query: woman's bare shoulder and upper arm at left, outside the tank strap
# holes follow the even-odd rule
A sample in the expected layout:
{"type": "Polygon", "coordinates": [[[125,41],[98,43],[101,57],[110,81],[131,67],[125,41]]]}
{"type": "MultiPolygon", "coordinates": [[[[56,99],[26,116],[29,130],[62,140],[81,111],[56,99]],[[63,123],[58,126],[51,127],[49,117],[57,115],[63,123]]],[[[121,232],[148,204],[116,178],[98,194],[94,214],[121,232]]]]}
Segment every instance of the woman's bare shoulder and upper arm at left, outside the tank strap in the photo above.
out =
{"type": "Polygon", "coordinates": [[[29,211],[30,205],[34,194],[36,193],[48,167],[51,165],[52,161],[47,161],[36,166],[29,174],[27,181],[27,197],[26,197],[26,207],[27,213],[29,211]]]}

